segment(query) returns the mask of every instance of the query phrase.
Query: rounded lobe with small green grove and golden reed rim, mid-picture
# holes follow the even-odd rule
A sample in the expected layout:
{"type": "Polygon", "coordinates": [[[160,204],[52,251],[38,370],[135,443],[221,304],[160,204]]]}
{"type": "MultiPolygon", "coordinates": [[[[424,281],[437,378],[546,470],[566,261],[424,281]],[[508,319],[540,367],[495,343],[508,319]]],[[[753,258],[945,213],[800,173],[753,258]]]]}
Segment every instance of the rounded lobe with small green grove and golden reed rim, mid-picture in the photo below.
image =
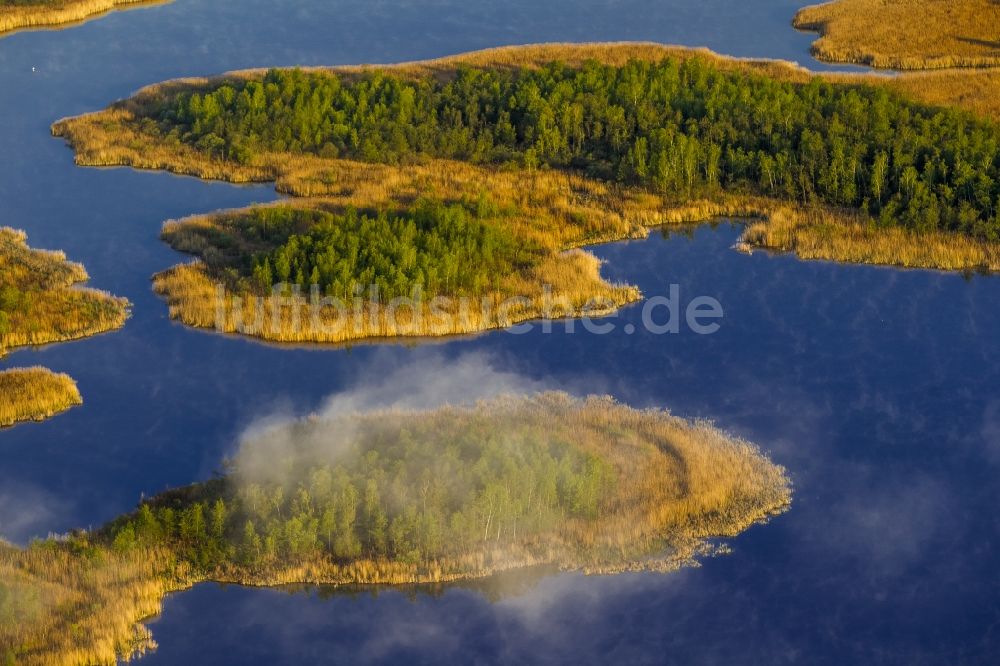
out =
{"type": "Polygon", "coordinates": [[[309,200],[167,224],[163,238],[201,261],[160,273],[154,288],[187,324],[282,342],[475,333],[639,298],[605,282],[593,255],[561,251],[558,230],[540,227],[549,218],[484,193],[371,202],[385,207],[309,200]]]}

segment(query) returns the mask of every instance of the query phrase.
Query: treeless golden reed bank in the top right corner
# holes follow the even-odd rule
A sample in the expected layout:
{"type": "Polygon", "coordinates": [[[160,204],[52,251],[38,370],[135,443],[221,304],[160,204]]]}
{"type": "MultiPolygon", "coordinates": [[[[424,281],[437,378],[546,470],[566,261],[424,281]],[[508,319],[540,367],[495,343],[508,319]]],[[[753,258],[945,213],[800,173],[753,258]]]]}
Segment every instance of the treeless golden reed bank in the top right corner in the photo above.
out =
{"type": "Polygon", "coordinates": [[[1000,5],[993,0],[835,0],[793,24],[822,36],[813,55],[884,69],[1000,66],[1000,5]]]}

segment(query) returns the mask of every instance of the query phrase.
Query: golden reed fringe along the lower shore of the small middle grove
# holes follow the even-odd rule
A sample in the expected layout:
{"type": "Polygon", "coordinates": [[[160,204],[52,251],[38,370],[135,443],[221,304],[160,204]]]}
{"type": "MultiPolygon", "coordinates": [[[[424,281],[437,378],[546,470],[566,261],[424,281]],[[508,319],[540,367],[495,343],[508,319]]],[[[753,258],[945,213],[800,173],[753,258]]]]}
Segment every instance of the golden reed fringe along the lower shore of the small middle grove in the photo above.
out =
{"type": "Polygon", "coordinates": [[[286,343],[480,333],[549,314],[554,318],[600,316],[640,298],[635,287],[605,282],[597,258],[580,250],[554,255],[527,273],[506,276],[504,291],[472,300],[424,300],[415,308],[365,301],[357,309],[352,303],[344,310],[314,309],[306,295],[293,300],[281,295],[220,293],[217,279],[203,262],[159,273],[153,286],[166,299],[170,316],[189,326],[286,343]],[[551,292],[543,285],[550,285],[551,292]]]}

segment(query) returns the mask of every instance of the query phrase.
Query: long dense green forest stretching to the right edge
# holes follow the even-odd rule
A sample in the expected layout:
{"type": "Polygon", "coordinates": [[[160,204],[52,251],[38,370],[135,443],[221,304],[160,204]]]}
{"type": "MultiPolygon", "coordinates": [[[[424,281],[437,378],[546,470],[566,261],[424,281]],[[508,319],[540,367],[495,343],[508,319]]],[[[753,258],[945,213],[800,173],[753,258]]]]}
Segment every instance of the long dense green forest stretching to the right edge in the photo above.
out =
{"type": "Polygon", "coordinates": [[[150,121],[218,158],[265,151],[571,168],[677,199],[720,188],[1000,238],[1000,128],[882,88],[698,59],[460,68],[448,80],[272,70],[167,96],[150,121]]]}

